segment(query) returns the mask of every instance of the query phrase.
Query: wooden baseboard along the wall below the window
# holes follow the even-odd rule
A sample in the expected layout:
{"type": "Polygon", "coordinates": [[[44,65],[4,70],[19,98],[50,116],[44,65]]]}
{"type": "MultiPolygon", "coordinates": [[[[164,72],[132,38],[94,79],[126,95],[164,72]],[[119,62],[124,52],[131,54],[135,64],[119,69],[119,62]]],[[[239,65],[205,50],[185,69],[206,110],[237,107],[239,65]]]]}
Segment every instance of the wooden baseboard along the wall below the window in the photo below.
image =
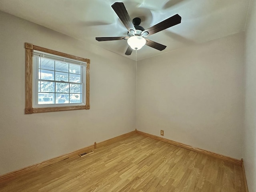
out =
{"type": "Polygon", "coordinates": [[[82,149],[75,150],[73,152],[70,152],[70,153],[67,153],[67,154],[64,154],[64,155],[61,155],[61,156],[58,156],[58,157],[55,157],[55,158],[52,158],[52,159],[49,159],[49,160],[45,160],[43,162],[31,165],[31,166],[27,166],[25,168],[22,168],[22,169],[19,169],[19,170],[15,170],[13,172],[1,175],[0,176],[0,183],[1,182],[5,182],[6,180],[10,180],[10,179],[12,179],[14,177],[20,176],[22,174],[25,174],[29,170],[32,170],[32,169],[35,169],[35,168],[39,168],[39,167],[45,167],[45,166],[48,166],[50,164],[54,164],[56,162],[60,162],[60,161],[62,161],[64,159],[70,158],[72,156],[76,156],[78,154],[81,154],[82,152],[89,151],[89,150],[94,150],[95,148],[99,148],[99,147],[102,147],[102,146],[106,146],[106,145],[112,144],[112,143],[114,143],[114,142],[116,142],[118,140],[122,140],[122,139],[124,139],[126,137],[129,137],[129,136],[135,134],[135,133],[136,133],[136,131],[134,130],[132,132],[129,132],[129,133],[126,133],[126,134],[122,134],[120,136],[117,136],[117,137],[114,137],[114,138],[111,138],[111,139],[108,139],[108,140],[105,140],[105,141],[102,141],[102,142],[99,142],[99,143],[94,142],[93,145],[84,147],[82,149]]]}

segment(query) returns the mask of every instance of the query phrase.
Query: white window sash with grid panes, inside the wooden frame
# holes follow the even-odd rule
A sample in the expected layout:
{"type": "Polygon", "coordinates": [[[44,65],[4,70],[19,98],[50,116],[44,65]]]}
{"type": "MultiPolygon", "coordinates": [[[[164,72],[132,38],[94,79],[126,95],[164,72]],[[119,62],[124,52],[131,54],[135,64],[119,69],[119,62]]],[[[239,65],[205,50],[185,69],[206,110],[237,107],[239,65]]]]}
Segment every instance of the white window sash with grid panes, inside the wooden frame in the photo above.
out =
{"type": "Polygon", "coordinates": [[[33,106],[84,104],[86,62],[33,51],[33,106]]]}

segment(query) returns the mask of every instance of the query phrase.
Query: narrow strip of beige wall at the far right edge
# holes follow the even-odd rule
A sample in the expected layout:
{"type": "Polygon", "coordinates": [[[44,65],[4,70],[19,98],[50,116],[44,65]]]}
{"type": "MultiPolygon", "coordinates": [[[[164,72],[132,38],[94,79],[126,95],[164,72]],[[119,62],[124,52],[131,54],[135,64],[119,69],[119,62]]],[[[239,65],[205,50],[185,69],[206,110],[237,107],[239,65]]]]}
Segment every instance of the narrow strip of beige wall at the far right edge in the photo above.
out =
{"type": "Polygon", "coordinates": [[[250,192],[256,191],[256,1],[251,0],[246,24],[245,124],[243,158],[250,192]]]}

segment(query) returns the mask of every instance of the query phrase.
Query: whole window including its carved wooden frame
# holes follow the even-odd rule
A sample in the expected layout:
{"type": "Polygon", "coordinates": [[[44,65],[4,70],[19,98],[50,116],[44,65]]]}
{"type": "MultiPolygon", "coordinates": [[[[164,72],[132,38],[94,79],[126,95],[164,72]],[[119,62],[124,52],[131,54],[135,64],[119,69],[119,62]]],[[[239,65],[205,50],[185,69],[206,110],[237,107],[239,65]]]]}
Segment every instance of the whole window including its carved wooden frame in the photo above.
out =
{"type": "Polygon", "coordinates": [[[26,46],[25,113],[90,109],[90,60],[26,46]]]}

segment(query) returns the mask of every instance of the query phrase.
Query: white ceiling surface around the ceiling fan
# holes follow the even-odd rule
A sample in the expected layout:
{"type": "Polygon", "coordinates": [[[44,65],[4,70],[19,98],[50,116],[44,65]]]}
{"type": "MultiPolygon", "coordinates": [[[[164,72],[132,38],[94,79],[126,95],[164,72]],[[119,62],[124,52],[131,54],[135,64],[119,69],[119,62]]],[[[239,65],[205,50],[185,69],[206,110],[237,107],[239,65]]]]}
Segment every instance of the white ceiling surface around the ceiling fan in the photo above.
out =
{"type": "MultiPolygon", "coordinates": [[[[116,0],[0,0],[0,10],[122,56],[126,40],[98,42],[95,37],[127,36],[112,9],[116,0]]],[[[244,31],[250,0],[124,0],[130,18],[149,28],[179,14],[181,24],[148,39],[166,45],[163,51],[144,46],[138,60],[244,31]]],[[[130,56],[135,60],[135,51],[130,56]]]]}

